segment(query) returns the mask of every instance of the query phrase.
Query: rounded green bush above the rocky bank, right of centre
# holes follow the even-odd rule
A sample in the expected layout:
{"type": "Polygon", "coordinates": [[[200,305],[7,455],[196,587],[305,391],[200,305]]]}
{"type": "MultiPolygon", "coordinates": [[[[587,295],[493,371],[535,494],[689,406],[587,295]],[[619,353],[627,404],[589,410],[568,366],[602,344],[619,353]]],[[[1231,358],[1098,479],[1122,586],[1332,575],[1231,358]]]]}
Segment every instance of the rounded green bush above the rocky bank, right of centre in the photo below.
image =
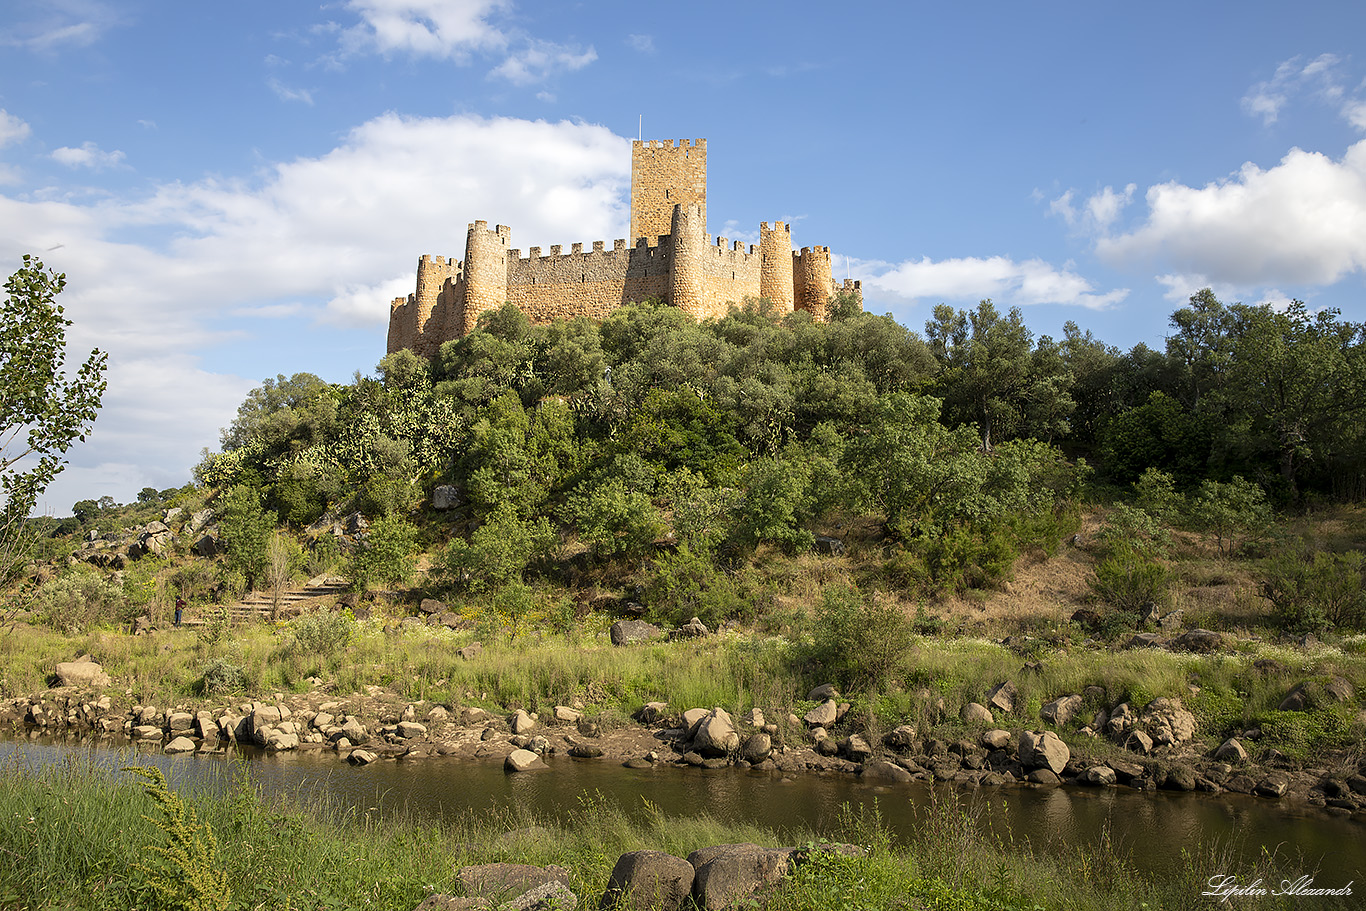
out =
{"type": "Polygon", "coordinates": [[[850,691],[887,688],[902,672],[912,636],[912,621],[896,602],[831,586],[821,594],[807,657],[850,691]]]}

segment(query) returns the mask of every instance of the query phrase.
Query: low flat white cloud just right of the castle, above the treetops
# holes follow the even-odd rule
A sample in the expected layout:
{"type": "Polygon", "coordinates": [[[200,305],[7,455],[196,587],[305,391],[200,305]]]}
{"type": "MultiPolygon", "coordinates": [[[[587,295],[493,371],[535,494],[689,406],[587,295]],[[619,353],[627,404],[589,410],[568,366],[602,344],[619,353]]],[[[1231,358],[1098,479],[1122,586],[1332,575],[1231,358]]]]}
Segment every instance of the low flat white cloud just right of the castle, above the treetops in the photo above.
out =
{"type": "MultiPolygon", "coordinates": [[[[881,264],[887,268],[885,264],[881,264]]],[[[979,300],[992,298],[1004,306],[1070,305],[1100,310],[1128,296],[1127,288],[1105,294],[1082,276],[1042,261],[1015,261],[1008,257],[960,257],[953,260],[906,261],[880,275],[878,264],[856,264],[865,288],[903,300],[979,300]]]]}

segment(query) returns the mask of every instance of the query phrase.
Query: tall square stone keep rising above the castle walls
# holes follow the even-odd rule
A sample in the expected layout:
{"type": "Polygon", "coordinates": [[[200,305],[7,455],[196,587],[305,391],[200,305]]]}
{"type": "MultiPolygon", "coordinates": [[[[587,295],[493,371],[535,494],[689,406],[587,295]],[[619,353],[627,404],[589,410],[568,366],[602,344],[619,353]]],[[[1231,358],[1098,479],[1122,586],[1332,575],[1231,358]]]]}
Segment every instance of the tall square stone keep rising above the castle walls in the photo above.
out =
{"type": "Polygon", "coordinates": [[[706,234],[706,139],[631,142],[631,240],[669,234],[673,206],[697,206],[706,234]]]}

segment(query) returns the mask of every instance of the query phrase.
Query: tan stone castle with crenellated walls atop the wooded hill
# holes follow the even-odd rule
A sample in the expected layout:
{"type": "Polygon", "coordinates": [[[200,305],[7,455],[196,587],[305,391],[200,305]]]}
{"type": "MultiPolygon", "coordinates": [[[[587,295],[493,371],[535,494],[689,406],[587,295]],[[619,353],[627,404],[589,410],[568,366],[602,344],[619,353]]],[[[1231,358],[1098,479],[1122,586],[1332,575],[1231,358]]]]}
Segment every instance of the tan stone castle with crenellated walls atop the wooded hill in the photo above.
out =
{"type": "Polygon", "coordinates": [[[706,234],[706,139],[631,143],[631,236],[585,251],[556,244],[549,255],[510,249],[512,231],[486,221],[470,225],[464,260],[423,255],[417,294],[389,310],[389,354],[411,348],[430,358],[504,302],[531,322],[572,317],[601,320],[626,303],[660,298],[697,320],[724,316],[744,298],[766,298],[779,311],[806,310],[825,320],[839,290],[861,294],[858,281],[836,285],[829,247],[792,250],[791,227],[759,224],[755,247],[706,234]]]}

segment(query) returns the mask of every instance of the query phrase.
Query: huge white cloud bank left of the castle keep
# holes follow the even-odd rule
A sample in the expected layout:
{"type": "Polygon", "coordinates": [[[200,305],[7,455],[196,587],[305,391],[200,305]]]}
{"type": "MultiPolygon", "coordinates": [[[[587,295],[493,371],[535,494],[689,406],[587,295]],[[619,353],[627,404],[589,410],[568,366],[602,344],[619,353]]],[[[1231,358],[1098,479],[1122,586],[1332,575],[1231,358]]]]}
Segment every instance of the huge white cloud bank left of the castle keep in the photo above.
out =
{"type": "Polygon", "coordinates": [[[605,127],[389,113],[251,179],[138,197],[0,193],[0,224],[15,227],[0,232],[0,262],[59,247],[42,255],[67,273],[72,350],[109,352],[93,443],[49,501],[68,512],[83,496],[184,483],[257,385],[205,370],[216,346],[306,333],[310,321],[325,337],[359,328],[373,346],[351,366],[365,369],[421,254],[463,258],[475,219],[511,225],[523,250],[611,243],[627,232],[628,186],[630,142],[605,127]]]}

